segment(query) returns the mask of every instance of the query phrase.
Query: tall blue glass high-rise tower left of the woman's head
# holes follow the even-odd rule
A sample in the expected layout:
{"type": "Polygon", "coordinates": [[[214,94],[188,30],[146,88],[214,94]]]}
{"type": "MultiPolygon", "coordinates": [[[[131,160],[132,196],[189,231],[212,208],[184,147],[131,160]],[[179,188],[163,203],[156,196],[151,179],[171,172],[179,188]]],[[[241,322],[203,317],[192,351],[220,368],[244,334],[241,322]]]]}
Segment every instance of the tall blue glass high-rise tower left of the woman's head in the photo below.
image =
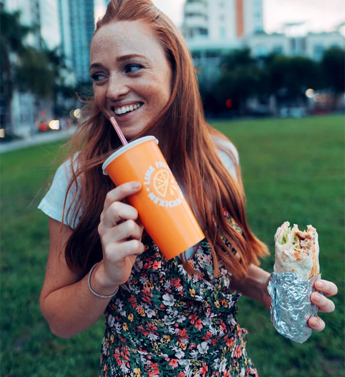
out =
{"type": "Polygon", "coordinates": [[[95,30],[94,0],[59,0],[62,47],[75,81],[89,79],[90,42],[95,30]]]}

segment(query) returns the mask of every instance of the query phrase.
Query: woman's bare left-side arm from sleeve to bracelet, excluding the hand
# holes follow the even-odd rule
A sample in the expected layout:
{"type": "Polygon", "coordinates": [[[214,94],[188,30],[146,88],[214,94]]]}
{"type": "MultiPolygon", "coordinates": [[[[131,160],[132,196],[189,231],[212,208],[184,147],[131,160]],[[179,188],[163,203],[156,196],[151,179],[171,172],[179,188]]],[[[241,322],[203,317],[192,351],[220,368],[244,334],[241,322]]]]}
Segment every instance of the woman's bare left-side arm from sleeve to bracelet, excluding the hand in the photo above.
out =
{"type": "MultiPolygon", "coordinates": [[[[87,276],[80,279],[78,273],[67,267],[65,253],[61,251],[72,230],[66,225],[62,230],[60,228],[60,222],[49,218],[50,247],[40,308],[51,331],[69,338],[97,322],[110,299],[93,295],[87,285],[87,276]]],[[[96,292],[111,294],[102,286],[97,267],[92,274],[91,286],[96,292]]]]}

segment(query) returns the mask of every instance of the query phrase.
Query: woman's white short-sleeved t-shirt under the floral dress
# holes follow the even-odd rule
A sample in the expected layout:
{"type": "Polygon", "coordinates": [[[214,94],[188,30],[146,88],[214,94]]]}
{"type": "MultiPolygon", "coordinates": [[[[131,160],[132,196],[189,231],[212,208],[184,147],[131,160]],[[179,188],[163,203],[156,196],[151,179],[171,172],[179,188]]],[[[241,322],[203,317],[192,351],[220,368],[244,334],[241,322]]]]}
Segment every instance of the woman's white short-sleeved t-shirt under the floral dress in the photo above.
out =
{"type": "MultiPolygon", "coordinates": [[[[225,145],[234,154],[238,163],[238,153],[237,153],[236,148],[233,146],[233,144],[229,143],[229,141],[223,141],[220,139],[217,139],[217,142],[222,143],[222,144],[225,143],[225,145]]],[[[237,179],[235,166],[231,158],[229,157],[229,155],[226,152],[223,152],[220,150],[217,150],[217,152],[224,166],[237,179]]],[[[76,161],[77,156],[78,156],[77,154],[74,156],[74,161],[73,161],[73,163],[75,164],[74,165],[75,169],[76,169],[76,163],[77,163],[76,161]]],[[[57,220],[57,221],[62,220],[65,196],[66,196],[66,191],[67,191],[67,187],[70,182],[70,179],[71,179],[71,164],[70,164],[70,160],[67,160],[57,169],[53,182],[47,194],[38,205],[38,209],[43,211],[46,215],[48,215],[54,220],[57,220]]],[[[180,183],[179,183],[179,186],[181,187],[180,183]]],[[[183,187],[181,187],[181,191],[183,195],[185,196],[185,191],[183,187]]],[[[72,221],[73,210],[69,211],[68,215],[66,212],[70,204],[72,203],[75,192],[76,192],[75,187],[73,185],[67,195],[66,207],[65,207],[66,209],[65,209],[65,216],[64,216],[64,224],[70,226],[72,229],[77,226],[79,218],[77,216],[75,221],[72,221]]],[[[78,197],[78,193],[77,193],[77,197],[78,197]]],[[[193,251],[194,251],[193,247],[189,248],[186,251],[186,258],[189,258],[190,255],[192,255],[193,251]]]]}

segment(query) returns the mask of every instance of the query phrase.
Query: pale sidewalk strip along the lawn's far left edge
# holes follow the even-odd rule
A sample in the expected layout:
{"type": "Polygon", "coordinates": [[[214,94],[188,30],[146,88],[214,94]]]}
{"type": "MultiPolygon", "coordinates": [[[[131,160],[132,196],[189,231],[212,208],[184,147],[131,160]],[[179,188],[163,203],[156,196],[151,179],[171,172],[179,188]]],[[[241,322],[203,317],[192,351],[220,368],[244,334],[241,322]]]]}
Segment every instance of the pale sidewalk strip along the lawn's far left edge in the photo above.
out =
{"type": "Polygon", "coordinates": [[[24,139],[8,141],[0,144],[0,153],[14,151],[16,149],[26,148],[32,145],[44,144],[51,141],[57,141],[61,139],[66,139],[69,136],[72,136],[76,126],[71,126],[68,130],[61,131],[50,131],[42,132],[33,136],[28,136],[24,139]]]}

